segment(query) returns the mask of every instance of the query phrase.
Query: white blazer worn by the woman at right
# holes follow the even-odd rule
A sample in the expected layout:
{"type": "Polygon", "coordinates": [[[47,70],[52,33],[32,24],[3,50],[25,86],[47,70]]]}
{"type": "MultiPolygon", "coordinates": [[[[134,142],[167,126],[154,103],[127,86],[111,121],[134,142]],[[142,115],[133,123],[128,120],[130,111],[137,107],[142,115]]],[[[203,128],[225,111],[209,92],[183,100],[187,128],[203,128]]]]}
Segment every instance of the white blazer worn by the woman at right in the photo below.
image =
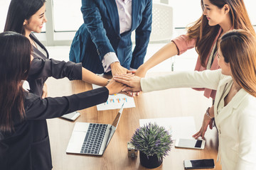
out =
{"type": "Polygon", "coordinates": [[[232,77],[221,74],[221,69],[177,72],[141,80],[144,92],[178,87],[217,90],[214,115],[219,136],[218,157],[223,170],[256,169],[256,98],[240,89],[224,106],[232,84],[232,77]]]}

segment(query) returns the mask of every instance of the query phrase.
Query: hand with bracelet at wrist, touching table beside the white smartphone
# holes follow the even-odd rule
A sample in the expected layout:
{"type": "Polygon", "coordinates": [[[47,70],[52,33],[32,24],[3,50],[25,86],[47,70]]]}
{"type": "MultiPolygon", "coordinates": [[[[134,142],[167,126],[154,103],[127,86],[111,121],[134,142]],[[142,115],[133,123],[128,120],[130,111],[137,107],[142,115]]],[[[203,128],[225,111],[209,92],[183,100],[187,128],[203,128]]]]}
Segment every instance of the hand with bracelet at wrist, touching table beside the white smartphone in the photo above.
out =
{"type": "MultiPolygon", "coordinates": [[[[214,110],[213,110],[213,106],[212,106],[209,109],[209,114],[214,115],[213,112],[214,112],[214,110]]],[[[203,117],[203,123],[202,123],[201,129],[195,135],[193,135],[193,137],[195,139],[198,139],[198,137],[204,138],[204,135],[206,134],[206,130],[208,128],[208,125],[209,125],[210,129],[213,129],[213,119],[209,118],[209,116],[205,114],[204,117],[203,117]]]]}

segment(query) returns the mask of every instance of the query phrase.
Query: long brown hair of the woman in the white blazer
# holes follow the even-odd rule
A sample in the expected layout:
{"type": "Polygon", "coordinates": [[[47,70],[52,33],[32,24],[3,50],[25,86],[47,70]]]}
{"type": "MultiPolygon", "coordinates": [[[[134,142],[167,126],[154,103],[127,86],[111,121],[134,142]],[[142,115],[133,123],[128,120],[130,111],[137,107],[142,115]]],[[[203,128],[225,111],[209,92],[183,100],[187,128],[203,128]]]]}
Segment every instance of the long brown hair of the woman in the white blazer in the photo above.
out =
{"type": "Polygon", "coordinates": [[[255,36],[246,30],[232,30],[220,38],[219,47],[235,81],[256,97],[255,36]]]}

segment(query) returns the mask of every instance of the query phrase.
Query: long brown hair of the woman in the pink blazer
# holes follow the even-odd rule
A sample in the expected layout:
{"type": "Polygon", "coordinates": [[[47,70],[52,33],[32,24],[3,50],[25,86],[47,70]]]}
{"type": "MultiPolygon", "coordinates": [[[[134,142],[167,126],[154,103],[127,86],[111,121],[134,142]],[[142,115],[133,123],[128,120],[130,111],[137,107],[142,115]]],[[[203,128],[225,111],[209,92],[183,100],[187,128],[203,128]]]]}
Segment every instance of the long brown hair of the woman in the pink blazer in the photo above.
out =
{"type": "MultiPolygon", "coordinates": [[[[209,0],[210,4],[223,8],[225,4],[230,6],[230,18],[234,29],[248,30],[252,35],[255,35],[255,30],[252,28],[250,18],[247,14],[243,0],[209,0]]],[[[204,10],[203,0],[201,7],[204,10]]],[[[208,19],[202,15],[193,26],[188,28],[188,38],[196,38],[196,51],[198,52],[201,65],[206,67],[206,59],[210,53],[215,37],[218,35],[220,26],[209,26],[208,19]]]]}

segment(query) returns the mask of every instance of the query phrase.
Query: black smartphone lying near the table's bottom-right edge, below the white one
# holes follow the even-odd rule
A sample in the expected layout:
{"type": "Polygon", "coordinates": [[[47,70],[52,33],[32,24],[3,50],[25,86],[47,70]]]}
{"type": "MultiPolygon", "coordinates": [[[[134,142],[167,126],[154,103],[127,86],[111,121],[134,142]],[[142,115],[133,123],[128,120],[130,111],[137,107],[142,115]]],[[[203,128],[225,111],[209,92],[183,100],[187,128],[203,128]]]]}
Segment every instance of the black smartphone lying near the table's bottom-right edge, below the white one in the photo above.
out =
{"type": "Polygon", "coordinates": [[[214,167],[213,159],[184,160],[185,169],[213,169],[214,167]]]}

